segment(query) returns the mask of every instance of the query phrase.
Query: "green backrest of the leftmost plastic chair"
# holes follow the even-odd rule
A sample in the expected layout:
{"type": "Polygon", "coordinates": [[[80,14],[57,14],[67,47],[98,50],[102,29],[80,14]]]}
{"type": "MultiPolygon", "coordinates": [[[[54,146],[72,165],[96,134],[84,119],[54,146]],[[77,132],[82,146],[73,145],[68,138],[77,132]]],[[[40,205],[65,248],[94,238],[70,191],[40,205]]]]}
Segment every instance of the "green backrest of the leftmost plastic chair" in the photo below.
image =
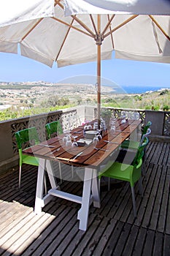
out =
{"type": "Polygon", "coordinates": [[[20,131],[15,132],[15,138],[17,141],[18,149],[23,148],[23,145],[28,147],[39,143],[39,136],[35,127],[21,129],[20,131]]]}

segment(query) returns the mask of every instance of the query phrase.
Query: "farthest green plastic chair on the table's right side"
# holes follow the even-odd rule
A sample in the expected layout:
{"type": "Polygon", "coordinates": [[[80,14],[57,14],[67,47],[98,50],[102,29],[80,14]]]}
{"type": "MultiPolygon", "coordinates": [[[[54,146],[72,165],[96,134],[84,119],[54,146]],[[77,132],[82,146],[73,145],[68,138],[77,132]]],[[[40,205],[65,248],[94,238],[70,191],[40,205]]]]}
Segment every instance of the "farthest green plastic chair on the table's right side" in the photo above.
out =
{"type": "Polygon", "coordinates": [[[142,136],[140,141],[135,141],[135,140],[125,140],[121,144],[120,148],[125,148],[125,149],[132,149],[132,150],[137,150],[139,146],[142,144],[142,141],[144,138],[150,134],[151,129],[150,126],[152,125],[151,121],[148,121],[147,124],[144,126],[143,131],[142,131],[142,136]]]}

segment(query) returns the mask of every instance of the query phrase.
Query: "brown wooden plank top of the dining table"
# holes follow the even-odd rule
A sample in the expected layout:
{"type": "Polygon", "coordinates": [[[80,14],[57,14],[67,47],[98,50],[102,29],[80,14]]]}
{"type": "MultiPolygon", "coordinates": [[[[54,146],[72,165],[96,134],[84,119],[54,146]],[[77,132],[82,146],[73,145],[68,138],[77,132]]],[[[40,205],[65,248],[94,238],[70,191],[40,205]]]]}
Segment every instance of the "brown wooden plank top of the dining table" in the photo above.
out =
{"type": "MultiPolygon", "coordinates": [[[[121,120],[117,119],[115,132],[110,133],[109,130],[104,131],[102,139],[95,145],[91,143],[88,146],[66,147],[63,143],[63,134],[51,138],[50,140],[45,140],[30,148],[26,148],[23,150],[23,154],[53,161],[61,161],[68,165],[82,167],[89,165],[90,167],[97,168],[112,152],[120,147],[121,143],[123,143],[140,124],[141,121],[139,120],[128,120],[125,124],[121,124],[121,120]],[[81,156],[74,159],[80,152],[82,152],[81,156]]],[[[73,129],[70,133],[71,136],[76,135],[77,140],[84,138],[83,126],[73,129]]]]}

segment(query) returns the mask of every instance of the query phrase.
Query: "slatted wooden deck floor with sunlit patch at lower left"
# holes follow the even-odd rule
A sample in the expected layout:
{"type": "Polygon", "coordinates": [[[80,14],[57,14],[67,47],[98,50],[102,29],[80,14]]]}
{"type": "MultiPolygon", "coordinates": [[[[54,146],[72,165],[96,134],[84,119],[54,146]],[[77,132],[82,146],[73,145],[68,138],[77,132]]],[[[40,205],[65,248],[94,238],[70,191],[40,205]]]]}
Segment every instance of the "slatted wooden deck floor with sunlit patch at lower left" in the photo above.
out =
{"type": "MultiPolygon", "coordinates": [[[[0,177],[0,255],[170,255],[170,144],[150,142],[147,148],[144,197],[136,187],[137,219],[126,183],[101,187],[101,208],[90,206],[88,230],[79,230],[80,205],[60,198],[34,214],[37,168],[23,165],[0,177]]],[[[62,188],[81,195],[81,182],[62,188]]]]}

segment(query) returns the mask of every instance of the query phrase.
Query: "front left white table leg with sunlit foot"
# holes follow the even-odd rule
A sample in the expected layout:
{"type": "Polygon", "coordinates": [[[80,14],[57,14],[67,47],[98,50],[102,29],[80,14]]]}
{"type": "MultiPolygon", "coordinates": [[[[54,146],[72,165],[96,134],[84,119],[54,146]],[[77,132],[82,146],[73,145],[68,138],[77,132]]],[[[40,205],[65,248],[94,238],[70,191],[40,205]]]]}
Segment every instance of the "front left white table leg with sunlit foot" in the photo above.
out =
{"type": "Polygon", "coordinates": [[[45,159],[39,158],[39,168],[36,183],[36,200],[35,200],[35,214],[41,214],[43,203],[43,190],[44,190],[44,178],[45,178],[45,159]]]}

